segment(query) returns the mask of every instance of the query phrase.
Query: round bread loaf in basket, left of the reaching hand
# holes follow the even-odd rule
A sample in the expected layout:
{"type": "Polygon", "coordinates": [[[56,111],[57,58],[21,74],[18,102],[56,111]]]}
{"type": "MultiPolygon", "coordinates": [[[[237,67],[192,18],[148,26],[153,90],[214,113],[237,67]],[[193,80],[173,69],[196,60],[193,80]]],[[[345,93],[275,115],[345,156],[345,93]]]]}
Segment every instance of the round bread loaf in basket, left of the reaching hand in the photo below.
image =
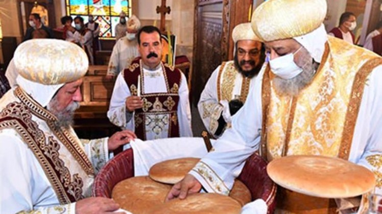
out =
{"type": "Polygon", "coordinates": [[[155,182],[149,176],[138,176],[117,183],[111,197],[121,208],[132,213],[149,213],[147,210],[164,203],[171,187],[155,182]]]}

